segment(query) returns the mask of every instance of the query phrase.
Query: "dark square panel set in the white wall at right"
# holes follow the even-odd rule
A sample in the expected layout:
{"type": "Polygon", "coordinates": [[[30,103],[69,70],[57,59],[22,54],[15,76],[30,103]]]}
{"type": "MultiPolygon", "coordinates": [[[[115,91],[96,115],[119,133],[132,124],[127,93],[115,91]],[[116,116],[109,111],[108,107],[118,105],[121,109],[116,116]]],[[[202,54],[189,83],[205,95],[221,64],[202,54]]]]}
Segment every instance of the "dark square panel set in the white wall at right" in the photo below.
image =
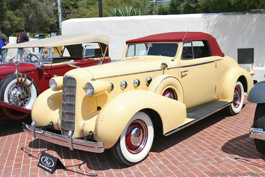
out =
{"type": "Polygon", "coordinates": [[[254,63],[254,48],[237,49],[237,63],[238,64],[254,63]]]}

